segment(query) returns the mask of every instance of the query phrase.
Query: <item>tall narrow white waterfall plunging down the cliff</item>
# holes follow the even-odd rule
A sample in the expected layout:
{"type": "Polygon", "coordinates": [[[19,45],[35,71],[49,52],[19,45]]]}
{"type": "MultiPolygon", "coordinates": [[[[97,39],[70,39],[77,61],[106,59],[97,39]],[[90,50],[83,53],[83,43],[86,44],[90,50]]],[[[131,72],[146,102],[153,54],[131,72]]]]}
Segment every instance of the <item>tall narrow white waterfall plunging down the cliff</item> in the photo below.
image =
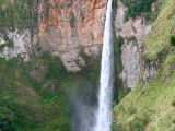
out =
{"type": "Polygon", "coordinates": [[[96,112],[95,131],[110,131],[112,100],[114,86],[114,51],[112,34],[112,0],[107,4],[105,32],[103,40],[101,78],[98,92],[98,109],[96,112]]]}

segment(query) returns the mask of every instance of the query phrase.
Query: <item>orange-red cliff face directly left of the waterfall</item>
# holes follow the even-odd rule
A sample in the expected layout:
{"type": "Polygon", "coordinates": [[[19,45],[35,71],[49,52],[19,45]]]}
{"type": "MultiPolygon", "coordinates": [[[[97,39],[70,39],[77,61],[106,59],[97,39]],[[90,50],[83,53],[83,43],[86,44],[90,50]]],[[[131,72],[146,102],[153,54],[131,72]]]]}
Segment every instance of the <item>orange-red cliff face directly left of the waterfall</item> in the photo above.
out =
{"type": "Polygon", "coordinates": [[[43,1],[39,5],[38,34],[35,44],[59,55],[68,70],[78,71],[75,64],[83,59],[80,47],[89,55],[98,53],[103,44],[107,0],[43,1]]]}

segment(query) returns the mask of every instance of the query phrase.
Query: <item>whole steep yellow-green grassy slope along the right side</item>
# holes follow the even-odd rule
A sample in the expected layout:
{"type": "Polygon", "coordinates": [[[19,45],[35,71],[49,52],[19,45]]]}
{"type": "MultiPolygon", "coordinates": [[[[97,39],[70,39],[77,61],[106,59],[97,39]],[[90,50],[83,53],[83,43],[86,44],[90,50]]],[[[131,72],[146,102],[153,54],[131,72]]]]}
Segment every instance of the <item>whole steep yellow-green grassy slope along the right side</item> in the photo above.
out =
{"type": "Polygon", "coordinates": [[[175,1],[163,0],[162,2],[153,29],[143,43],[145,58],[151,61],[151,64],[160,60],[160,68],[152,82],[143,87],[143,92],[140,91],[141,81],[139,80],[136,87],[113,109],[114,131],[131,130],[129,122],[135,123],[136,116],[142,116],[143,112],[150,117],[149,122],[144,124],[147,131],[156,131],[155,115],[160,131],[175,130],[175,124],[172,122],[175,120],[175,108],[172,106],[175,99],[175,51],[168,41],[170,36],[175,35],[175,1]],[[168,78],[166,82],[164,82],[165,78],[168,78]],[[133,111],[130,112],[131,110],[133,111]]]}

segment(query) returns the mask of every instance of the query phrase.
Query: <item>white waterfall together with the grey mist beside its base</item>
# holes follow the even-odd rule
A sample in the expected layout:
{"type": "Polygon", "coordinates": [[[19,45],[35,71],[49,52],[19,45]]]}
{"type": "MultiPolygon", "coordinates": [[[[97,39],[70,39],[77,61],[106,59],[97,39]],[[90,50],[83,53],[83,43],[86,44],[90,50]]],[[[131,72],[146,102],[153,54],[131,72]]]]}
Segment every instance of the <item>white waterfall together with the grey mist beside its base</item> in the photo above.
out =
{"type": "Polygon", "coordinates": [[[71,107],[72,131],[110,131],[110,107],[115,76],[110,17],[112,0],[107,4],[98,94],[95,94],[92,91],[92,85],[86,82],[85,90],[80,93],[79,98],[73,103],[73,108],[71,107]],[[94,102],[95,97],[93,95],[97,96],[97,102],[94,102]]]}

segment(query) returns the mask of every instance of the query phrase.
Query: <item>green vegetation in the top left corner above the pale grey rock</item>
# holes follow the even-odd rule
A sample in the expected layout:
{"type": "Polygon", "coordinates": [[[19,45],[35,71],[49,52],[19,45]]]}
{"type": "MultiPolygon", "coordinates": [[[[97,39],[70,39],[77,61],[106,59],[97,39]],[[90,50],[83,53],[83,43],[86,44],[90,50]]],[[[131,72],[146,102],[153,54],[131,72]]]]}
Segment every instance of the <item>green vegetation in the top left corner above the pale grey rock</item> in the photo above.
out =
{"type": "Polygon", "coordinates": [[[33,21],[37,21],[37,12],[32,14],[32,4],[37,4],[39,0],[1,0],[0,1],[0,32],[4,33],[5,28],[15,31],[32,27],[33,21]]]}

